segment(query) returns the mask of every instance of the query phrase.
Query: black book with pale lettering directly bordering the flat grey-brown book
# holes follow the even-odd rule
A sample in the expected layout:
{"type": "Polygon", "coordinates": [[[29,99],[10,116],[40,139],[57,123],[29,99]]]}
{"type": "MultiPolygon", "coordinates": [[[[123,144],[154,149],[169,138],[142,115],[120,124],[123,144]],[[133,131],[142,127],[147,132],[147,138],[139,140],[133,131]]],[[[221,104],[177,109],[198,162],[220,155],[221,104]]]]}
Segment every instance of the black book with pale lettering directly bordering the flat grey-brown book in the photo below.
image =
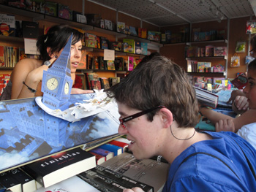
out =
{"type": "Polygon", "coordinates": [[[96,166],[93,169],[91,169],[92,172],[96,172],[99,175],[102,175],[103,177],[107,177],[110,180],[116,181],[118,185],[123,185],[126,188],[142,188],[143,191],[146,192],[153,192],[154,188],[150,185],[147,185],[145,183],[140,183],[138,180],[132,180],[132,178],[126,177],[122,174],[119,174],[117,172],[113,172],[110,169],[107,169],[103,166],[96,166]]]}

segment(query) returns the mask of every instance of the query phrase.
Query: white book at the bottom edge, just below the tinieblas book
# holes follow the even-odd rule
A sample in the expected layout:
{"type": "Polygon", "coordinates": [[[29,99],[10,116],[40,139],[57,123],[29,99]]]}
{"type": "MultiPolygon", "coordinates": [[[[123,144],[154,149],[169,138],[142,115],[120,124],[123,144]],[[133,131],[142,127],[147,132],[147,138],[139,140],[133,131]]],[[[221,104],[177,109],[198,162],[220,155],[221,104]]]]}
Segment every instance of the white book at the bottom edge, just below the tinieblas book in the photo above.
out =
{"type": "MultiPolygon", "coordinates": [[[[77,175],[63,180],[59,183],[51,185],[48,188],[38,188],[37,192],[80,192],[80,191],[90,191],[97,192],[97,188],[94,188],[89,183],[86,183],[84,180],[80,179],[77,175]]],[[[24,191],[26,192],[26,191],[24,191]]],[[[30,192],[30,191],[28,191],[30,192]]]]}

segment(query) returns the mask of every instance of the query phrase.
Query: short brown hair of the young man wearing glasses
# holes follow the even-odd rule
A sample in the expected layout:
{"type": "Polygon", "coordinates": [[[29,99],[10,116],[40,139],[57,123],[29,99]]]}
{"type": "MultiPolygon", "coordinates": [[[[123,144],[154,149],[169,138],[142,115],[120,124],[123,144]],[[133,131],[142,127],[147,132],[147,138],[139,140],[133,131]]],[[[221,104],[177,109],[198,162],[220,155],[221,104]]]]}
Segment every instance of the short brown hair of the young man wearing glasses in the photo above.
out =
{"type": "MultiPolygon", "coordinates": [[[[137,110],[164,105],[173,112],[178,126],[194,127],[197,124],[195,89],[186,72],[164,56],[155,56],[138,64],[108,90],[108,96],[137,110]]],[[[148,113],[148,120],[152,121],[155,114],[148,113]]]]}

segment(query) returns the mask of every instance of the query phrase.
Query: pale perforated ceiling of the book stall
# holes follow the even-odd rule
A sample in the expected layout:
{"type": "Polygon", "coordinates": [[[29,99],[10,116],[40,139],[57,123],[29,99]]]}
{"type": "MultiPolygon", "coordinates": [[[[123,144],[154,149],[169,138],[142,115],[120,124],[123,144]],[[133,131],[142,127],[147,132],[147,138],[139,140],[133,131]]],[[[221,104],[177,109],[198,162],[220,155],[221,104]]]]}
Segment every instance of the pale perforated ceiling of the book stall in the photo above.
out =
{"type": "Polygon", "coordinates": [[[255,15],[248,0],[88,1],[124,12],[159,27],[255,15]]]}

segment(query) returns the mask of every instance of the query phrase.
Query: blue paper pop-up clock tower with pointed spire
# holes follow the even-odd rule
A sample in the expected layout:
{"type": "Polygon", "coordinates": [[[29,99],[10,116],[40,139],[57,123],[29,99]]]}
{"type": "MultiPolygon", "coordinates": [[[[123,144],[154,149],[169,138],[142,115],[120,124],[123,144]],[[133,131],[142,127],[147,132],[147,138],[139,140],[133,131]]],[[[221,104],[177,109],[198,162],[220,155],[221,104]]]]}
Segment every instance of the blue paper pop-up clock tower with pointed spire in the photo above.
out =
{"type": "Polygon", "coordinates": [[[69,98],[72,88],[72,78],[70,74],[70,47],[72,45],[72,35],[69,37],[67,45],[61,52],[59,58],[53,65],[43,72],[42,76],[42,104],[51,110],[66,110],[69,107],[69,98]]]}

